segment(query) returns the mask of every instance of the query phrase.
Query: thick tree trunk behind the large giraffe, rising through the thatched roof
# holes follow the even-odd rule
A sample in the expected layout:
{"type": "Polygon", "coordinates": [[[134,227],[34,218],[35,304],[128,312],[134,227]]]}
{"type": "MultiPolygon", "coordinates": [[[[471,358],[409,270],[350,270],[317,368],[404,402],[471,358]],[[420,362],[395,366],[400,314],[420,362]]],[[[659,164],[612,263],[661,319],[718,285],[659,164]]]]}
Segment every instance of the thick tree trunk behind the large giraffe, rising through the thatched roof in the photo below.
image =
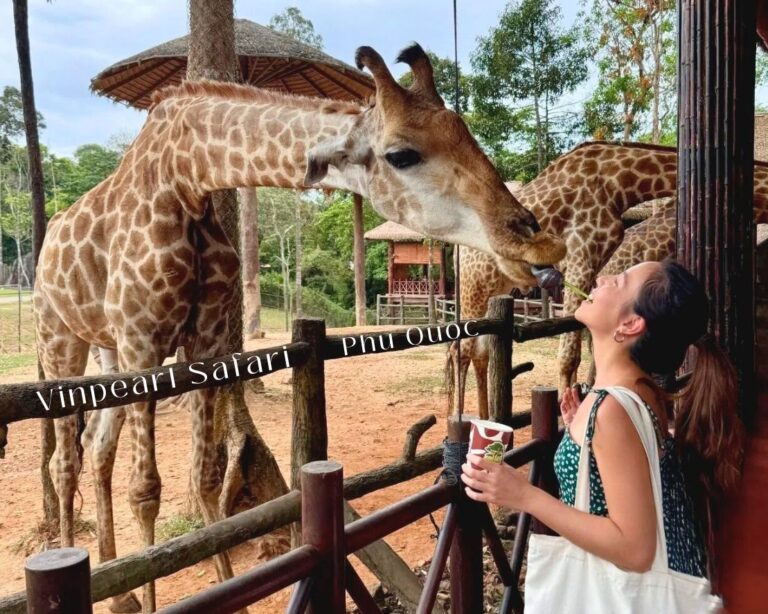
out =
{"type": "MultiPolygon", "coordinates": [[[[240,81],[235,56],[232,0],[190,0],[190,37],[187,78],[240,81]]],[[[213,194],[216,213],[230,242],[240,247],[239,215],[234,190],[213,194]]],[[[228,351],[243,346],[243,287],[238,279],[229,316],[228,351]]],[[[220,389],[214,439],[220,468],[224,470],[220,508],[231,514],[241,507],[288,492],[280,469],[248,413],[242,382],[220,389]]]]}

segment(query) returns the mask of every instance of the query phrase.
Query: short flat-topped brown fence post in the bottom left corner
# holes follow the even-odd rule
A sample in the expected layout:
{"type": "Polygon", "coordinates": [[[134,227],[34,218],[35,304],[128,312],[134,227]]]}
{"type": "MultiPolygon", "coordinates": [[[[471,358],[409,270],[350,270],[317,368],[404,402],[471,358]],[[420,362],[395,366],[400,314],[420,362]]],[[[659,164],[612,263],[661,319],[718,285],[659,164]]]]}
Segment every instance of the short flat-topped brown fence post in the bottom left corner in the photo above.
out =
{"type": "Polygon", "coordinates": [[[91,614],[91,566],[82,548],[55,548],[24,565],[29,614],[91,614]]]}

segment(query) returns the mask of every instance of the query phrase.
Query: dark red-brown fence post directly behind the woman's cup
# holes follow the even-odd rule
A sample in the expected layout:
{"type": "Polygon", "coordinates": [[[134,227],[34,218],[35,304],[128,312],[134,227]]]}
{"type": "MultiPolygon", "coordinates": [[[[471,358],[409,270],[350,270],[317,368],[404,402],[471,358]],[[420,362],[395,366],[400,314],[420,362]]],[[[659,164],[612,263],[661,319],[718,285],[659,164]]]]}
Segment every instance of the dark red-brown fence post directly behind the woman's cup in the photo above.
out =
{"type": "MultiPolygon", "coordinates": [[[[470,419],[476,416],[448,418],[448,439],[468,441],[470,419]]],[[[483,522],[479,504],[464,494],[464,483],[459,482],[461,494],[457,506],[456,533],[449,558],[451,575],[452,614],[480,614],[483,611],[483,522]]]]}

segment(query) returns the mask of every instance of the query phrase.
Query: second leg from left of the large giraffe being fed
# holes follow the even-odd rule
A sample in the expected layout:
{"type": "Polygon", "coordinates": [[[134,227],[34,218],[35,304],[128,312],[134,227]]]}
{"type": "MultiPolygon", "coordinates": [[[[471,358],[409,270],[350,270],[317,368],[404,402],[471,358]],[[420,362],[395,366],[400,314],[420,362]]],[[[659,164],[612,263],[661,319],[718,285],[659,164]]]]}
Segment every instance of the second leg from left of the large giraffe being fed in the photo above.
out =
{"type": "MultiPolygon", "coordinates": [[[[102,373],[117,372],[117,352],[98,349],[102,373]]],[[[96,518],[98,523],[99,562],[117,557],[115,525],[112,515],[112,473],[117,443],[123,423],[125,407],[110,407],[93,412],[83,433],[83,445],[91,448],[91,467],[96,490],[96,518]]],[[[116,613],[140,612],[141,604],[132,592],[112,597],[109,609],[116,613]]]]}

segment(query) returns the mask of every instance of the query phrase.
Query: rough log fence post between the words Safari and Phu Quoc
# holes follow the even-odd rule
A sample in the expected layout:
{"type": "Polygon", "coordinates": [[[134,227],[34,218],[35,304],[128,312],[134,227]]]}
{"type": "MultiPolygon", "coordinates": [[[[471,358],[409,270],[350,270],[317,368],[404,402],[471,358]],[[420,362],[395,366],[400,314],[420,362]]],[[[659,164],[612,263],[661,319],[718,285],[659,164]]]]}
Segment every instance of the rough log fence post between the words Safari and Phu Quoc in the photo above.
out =
{"type": "MultiPolygon", "coordinates": [[[[301,469],[309,462],[328,458],[328,424],[325,416],[325,321],[297,318],[294,342],[309,344],[307,360],[293,368],[293,415],[291,431],[291,489],[301,487],[301,469]]],[[[291,545],[301,543],[299,526],[291,526],[291,545]]]]}

